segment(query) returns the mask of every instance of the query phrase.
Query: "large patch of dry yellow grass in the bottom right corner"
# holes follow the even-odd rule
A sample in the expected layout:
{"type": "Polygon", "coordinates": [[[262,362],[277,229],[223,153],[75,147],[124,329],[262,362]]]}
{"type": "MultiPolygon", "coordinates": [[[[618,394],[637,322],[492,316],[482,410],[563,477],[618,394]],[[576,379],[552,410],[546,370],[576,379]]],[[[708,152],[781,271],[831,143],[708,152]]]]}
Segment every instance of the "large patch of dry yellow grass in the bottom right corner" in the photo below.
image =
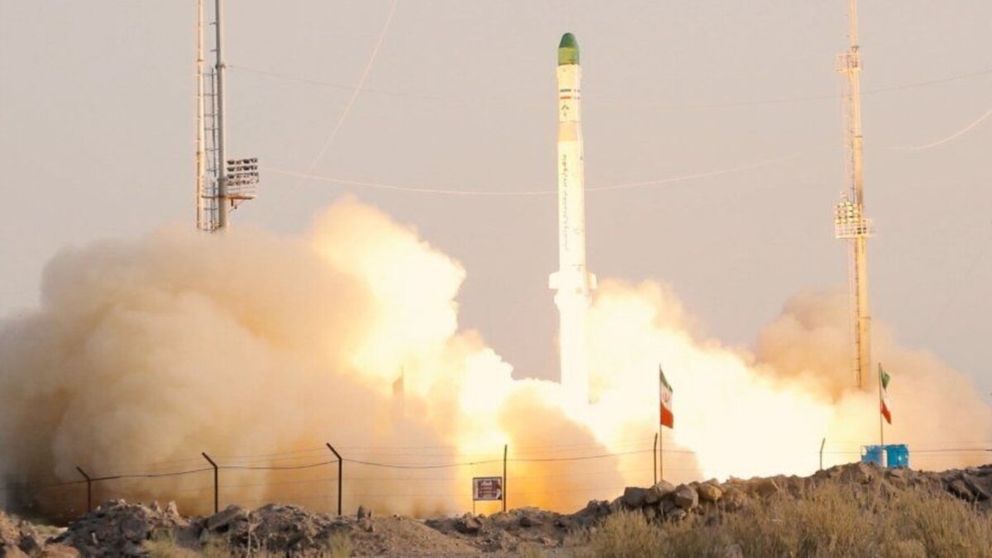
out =
{"type": "Polygon", "coordinates": [[[605,558],[790,556],[911,558],[992,556],[992,520],[943,494],[871,494],[827,486],[810,497],[755,502],[748,509],[680,523],[649,524],[639,513],[610,517],[590,538],[605,558]]]}

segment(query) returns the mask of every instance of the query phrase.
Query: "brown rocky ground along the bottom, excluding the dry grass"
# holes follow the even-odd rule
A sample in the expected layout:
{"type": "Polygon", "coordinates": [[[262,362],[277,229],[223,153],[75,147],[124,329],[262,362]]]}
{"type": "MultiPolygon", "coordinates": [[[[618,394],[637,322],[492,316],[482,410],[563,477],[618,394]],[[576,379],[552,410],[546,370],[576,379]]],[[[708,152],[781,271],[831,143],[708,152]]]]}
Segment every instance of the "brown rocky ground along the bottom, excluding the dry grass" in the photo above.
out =
{"type": "Polygon", "coordinates": [[[416,520],[312,513],[298,506],[270,504],[257,510],[231,506],[209,517],[184,517],[174,504],[110,501],[56,529],[0,513],[0,558],[69,556],[568,556],[602,522],[622,510],[652,522],[734,514],[772,498],[802,499],[825,485],[856,487],[871,494],[924,491],[992,507],[992,465],[941,473],[884,470],[851,464],[810,477],[730,479],[674,486],[629,487],[613,501],[592,501],[572,514],[523,508],[489,516],[416,520]]]}

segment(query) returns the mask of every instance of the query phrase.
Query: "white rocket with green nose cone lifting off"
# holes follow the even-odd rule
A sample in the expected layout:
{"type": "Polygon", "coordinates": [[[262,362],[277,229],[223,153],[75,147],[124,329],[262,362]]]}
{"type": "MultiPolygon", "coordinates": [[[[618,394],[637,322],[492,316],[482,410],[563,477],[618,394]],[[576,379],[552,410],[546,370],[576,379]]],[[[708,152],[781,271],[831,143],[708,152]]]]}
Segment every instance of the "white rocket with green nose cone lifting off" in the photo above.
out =
{"type": "Polygon", "coordinates": [[[558,307],[561,384],[576,402],[589,401],[586,314],[596,276],[586,269],[585,170],[582,160],[582,67],[575,36],[558,45],[558,271],[549,286],[558,307]]]}

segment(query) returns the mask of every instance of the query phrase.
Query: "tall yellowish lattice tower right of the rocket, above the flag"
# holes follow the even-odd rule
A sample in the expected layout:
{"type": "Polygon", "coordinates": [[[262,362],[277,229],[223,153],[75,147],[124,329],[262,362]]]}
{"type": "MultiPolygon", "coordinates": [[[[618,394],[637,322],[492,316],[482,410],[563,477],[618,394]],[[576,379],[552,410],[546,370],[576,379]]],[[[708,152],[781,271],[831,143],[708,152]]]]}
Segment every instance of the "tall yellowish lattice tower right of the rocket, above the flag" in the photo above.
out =
{"type": "Polygon", "coordinates": [[[837,238],[851,245],[850,282],[854,310],[854,369],[858,387],[871,372],[871,314],[868,308],[868,237],[871,221],[864,211],[863,153],[861,135],[861,52],[858,47],[856,0],[850,0],[850,47],[838,56],[838,71],[845,76],[844,120],[848,191],[834,213],[837,238]]]}

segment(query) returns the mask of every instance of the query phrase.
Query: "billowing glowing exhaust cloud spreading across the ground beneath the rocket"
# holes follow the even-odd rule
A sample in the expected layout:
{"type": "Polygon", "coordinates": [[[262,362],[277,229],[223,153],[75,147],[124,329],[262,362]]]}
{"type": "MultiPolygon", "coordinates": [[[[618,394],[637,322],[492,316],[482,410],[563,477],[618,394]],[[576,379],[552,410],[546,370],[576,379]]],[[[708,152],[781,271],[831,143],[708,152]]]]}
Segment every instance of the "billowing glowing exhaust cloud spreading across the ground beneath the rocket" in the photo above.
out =
{"type": "MultiPolygon", "coordinates": [[[[756,349],[700,333],[654,282],[604,281],[588,316],[591,405],[555,382],[514,379],[458,326],[462,266],[353,199],[303,237],[163,229],[66,250],[42,302],[0,325],[0,475],[12,505],[56,516],[53,482],[225,466],[222,499],[333,509],[344,500],[423,515],[471,508],[470,479],[502,473],[509,505],[570,510],[652,480],[657,366],[675,389],[665,477],[808,473],[877,443],[877,394],[848,360],[843,296],[792,298],[756,349]],[[320,464],[320,465],[316,465],[320,464]],[[313,465],[313,466],[310,466],[313,465]]],[[[886,439],[937,449],[987,442],[989,408],[935,356],[876,326],[893,374],[886,439]]],[[[981,453],[932,452],[944,468],[981,453]]],[[[78,487],[77,487],[78,488],[78,487]]],[[[97,498],[177,500],[205,513],[208,472],[101,481],[97,498]]],[[[480,511],[495,511],[484,508],[480,511]]]]}

